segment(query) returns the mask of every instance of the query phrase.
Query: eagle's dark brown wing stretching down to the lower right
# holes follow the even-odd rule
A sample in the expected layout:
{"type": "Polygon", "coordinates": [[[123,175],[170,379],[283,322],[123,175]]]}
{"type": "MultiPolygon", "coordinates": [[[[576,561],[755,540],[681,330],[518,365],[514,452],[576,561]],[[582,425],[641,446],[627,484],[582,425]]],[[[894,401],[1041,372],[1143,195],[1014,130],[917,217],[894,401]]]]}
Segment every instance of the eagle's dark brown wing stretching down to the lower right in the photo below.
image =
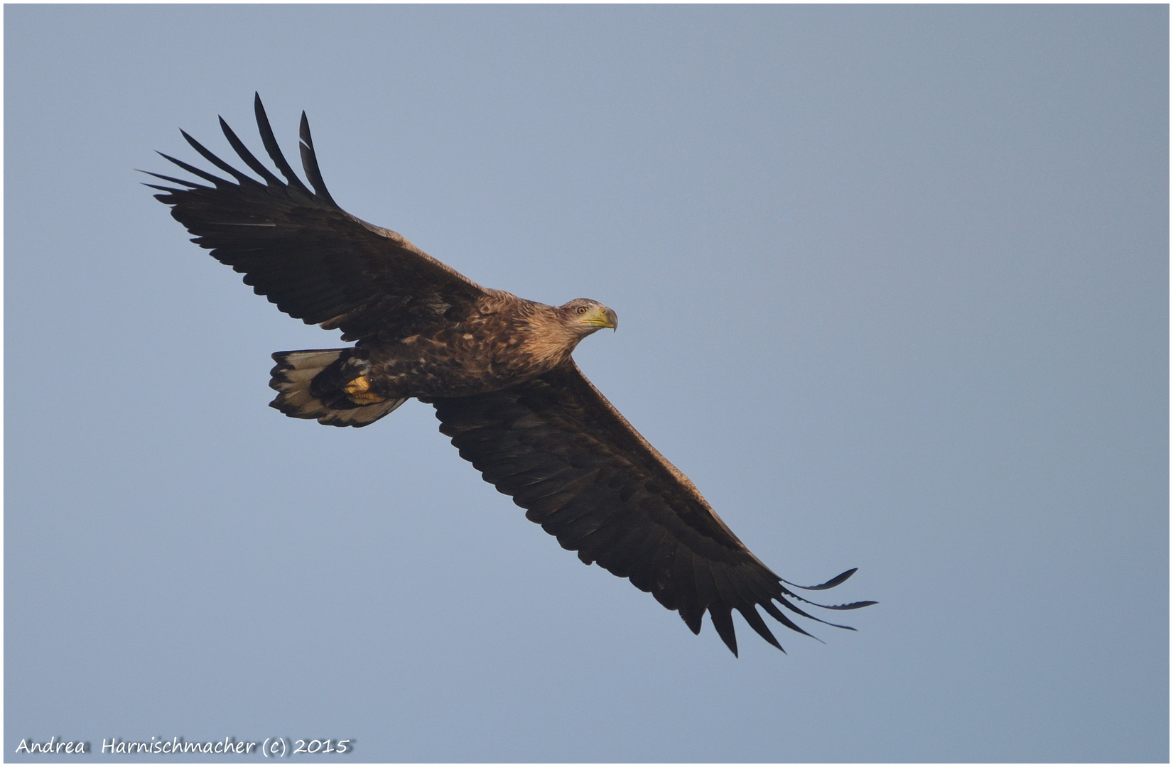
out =
{"type": "MultiPolygon", "coordinates": [[[[707,610],[737,654],[737,610],[781,650],[757,605],[807,633],[774,604],[813,618],[795,604],[807,600],[738,541],[692,482],[631,428],[574,362],[500,392],[426,401],[435,406],[440,430],[461,457],[513,496],[529,520],[586,564],[597,562],[669,610],[679,610],[693,633],[707,610]]],[[[853,572],[812,588],[829,589],[853,572]]]]}

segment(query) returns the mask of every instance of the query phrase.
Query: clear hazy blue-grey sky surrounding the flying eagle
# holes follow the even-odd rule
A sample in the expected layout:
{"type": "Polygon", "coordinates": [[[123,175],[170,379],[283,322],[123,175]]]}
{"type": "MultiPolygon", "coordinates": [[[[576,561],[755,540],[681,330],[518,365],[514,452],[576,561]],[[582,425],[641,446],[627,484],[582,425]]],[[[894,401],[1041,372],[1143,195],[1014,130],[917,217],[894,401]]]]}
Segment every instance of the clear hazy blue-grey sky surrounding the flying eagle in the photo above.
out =
{"type": "Polygon", "coordinates": [[[6,760],[1168,759],[1167,7],[4,13],[6,760]],[[613,307],[586,375],[859,632],[734,659],[430,408],[265,407],[338,334],[131,170],[259,151],[253,90],[351,212],[613,307]]]}

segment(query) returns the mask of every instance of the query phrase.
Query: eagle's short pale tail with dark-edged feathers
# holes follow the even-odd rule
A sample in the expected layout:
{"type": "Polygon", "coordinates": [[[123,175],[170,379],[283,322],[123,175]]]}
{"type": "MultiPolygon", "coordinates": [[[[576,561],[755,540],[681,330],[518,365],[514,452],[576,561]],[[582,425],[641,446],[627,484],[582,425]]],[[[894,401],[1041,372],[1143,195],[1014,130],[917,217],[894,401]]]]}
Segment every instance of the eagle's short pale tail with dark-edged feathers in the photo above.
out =
{"type": "Polygon", "coordinates": [[[277,399],[269,403],[296,419],[318,419],[330,426],[374,423],[407,398],[371,389],[365,349],[327,348],[277,352],[269,386],[277,399]]]}

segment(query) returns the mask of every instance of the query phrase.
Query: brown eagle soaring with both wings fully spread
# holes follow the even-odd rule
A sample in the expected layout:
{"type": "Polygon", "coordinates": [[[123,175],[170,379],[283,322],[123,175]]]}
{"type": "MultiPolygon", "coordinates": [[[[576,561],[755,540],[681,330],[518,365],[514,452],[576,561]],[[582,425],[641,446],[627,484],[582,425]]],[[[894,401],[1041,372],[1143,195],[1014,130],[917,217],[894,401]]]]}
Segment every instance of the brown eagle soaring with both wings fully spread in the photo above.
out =
{"type": "MultiPolygon", "coordinates": [[[[628,578],[699,633],[707,612],[737,656],[732,612],[782,650],[758,612],[811,636],[791,615],[838,626],[795,590],[820,591],[855,569],[799,586],[761,563],[692,482],[652,447],[583,375],[572,352],[618,317],[578,298],[550,306],[482,287],[402,235],[343,210],[318,168],[301,113],[307,186],[285,159],[256,95],[265,151],[278,177],[223,117],[221,129],[255,178],[181,130],[229,178],[160,152],[205,183],[149,174],[171,216],[244,274],[277,308],[353,346],[277,352],[271,406],[285,415],[364,427],[415,398],[435,408],[440,432],[486,482],[526,509],[585,563],[628,578]],[[787,615],[791,613],[791,615],[787,615]]],[[[784,651],[785,652],[785,651],[784,651]]]]}

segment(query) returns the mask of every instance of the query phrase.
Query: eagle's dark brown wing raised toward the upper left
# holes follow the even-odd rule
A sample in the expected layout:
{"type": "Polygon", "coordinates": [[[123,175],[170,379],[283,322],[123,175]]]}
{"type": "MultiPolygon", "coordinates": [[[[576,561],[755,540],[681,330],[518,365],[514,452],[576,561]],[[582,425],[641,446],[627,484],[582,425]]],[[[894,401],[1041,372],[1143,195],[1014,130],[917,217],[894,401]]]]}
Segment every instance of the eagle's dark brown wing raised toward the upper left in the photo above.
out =
{"type": "Polygon", "coordinates": [[[341,328],[344,340],[409,334],[413,326],[486,294],[401,235],[360,220],[334,203],[321,181],[305,113],[301,164],[313,190],[301,183],[277,145],[259,95],[255,107],[265,150],[285,181],[265,168],[223,118],[221,127],[232,149],[263,182],[185,133],[196,151],[235,181],[168,155],[163,157],[211,185],[151,174],[182,186],[148,184],[164,192],[156,197],[171,205],[171,215],[195,235],[192,242],[242,272],[246,285],[283,312],[307,325],[341,328]]]}

